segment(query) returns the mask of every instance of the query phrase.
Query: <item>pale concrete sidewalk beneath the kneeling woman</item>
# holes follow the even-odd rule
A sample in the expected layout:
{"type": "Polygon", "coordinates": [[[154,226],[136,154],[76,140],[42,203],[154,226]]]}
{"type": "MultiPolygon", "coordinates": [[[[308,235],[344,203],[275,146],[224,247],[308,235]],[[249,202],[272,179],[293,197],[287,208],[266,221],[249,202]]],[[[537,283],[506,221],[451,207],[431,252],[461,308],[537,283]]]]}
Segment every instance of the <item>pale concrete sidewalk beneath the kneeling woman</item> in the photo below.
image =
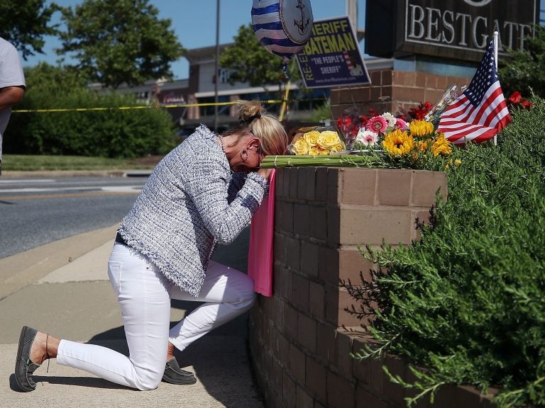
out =
{"type": "MultiPolygon", "coordinates": [[[[35,371],[33,392],[19,392],[13,377],[23,325],[74,341],[127,353],[121,312],[106,272],[116,226],[0,259],[0,407],[236,407],[263,408],[246,353],[247,315],[177,354],[197,377],[194,385],[161,382],[153,391],[122,387],[50,361],[35,371]]],[[[247,231],[214,259],[246,271],[247,231]]],[[[172,304],[171,322],[197,302],[172,304]]]]}

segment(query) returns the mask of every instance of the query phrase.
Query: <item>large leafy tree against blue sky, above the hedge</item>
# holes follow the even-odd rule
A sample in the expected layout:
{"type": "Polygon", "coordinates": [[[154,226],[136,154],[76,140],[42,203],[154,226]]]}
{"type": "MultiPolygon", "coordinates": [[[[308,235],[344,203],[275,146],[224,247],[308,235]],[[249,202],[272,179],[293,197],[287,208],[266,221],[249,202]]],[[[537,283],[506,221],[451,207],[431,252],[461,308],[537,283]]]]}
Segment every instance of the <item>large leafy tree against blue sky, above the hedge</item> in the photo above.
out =
{"type": "Polygon", "coordinates": [[[148,0],[84,0],[61,10],[67,30],[57,53],[72,52],[73,67],[105,86],[172,77],[170,63],[185,53],[170,19],[159,19],[148,0]]]}

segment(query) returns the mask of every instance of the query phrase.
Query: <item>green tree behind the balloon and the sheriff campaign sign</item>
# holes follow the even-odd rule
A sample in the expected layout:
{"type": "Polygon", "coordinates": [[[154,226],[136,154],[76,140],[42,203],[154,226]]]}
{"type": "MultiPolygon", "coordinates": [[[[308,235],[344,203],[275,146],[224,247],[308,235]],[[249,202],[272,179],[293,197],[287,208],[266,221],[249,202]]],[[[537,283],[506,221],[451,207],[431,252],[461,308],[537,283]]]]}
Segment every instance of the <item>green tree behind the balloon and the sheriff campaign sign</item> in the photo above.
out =
{"type": "MultiPolygon", "coordinates": [[[[263,86],[266,89],[267,85],[283,83],[282,58],[271,54],[259,44],[251,24],[238,28],[234,40],[234,44],[226,47],[219,57],[221,67],[231,69],[231,85],[247,82],[251,86],[263,86]]],[[[300,81],[301,75],[294,58],[287,67],[290,81],[300,81]]]]}

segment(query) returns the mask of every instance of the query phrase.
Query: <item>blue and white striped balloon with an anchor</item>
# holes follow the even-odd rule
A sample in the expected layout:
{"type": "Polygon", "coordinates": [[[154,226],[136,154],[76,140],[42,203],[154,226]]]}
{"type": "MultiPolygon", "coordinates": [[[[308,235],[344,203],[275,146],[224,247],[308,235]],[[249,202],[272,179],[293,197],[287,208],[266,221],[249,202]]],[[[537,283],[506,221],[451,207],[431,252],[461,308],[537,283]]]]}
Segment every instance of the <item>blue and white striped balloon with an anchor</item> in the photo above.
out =
{"type": "Polygon", "coordinates": [[[283,64],[304,48],[312,34],[310,0],[253,0],[252,27],[260,45],[283,64]]]}

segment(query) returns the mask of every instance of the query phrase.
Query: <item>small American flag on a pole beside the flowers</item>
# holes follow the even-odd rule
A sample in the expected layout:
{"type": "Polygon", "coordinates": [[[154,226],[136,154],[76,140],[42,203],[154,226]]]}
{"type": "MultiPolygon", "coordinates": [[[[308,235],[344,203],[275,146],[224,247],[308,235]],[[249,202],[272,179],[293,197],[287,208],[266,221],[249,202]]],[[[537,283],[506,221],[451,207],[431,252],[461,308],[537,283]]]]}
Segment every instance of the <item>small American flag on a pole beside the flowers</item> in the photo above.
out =
{"type": "Polygon", "coordinates": [[[466,91],[442,113],[437,130],[455,144],[480,143],[492,139],[510,122],[497,77],[492,40],[466,91]]]}

